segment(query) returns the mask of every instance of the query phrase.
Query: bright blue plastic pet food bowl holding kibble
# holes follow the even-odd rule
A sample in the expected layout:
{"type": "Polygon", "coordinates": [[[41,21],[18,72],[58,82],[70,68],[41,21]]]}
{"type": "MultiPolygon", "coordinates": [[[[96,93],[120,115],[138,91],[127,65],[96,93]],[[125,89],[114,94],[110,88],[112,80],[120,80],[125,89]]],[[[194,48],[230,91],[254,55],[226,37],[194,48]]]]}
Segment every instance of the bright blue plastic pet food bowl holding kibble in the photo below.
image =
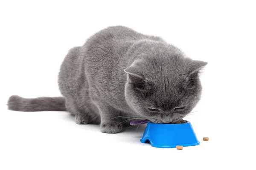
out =
{"type": "Polygon", "coordinates": [[[155,124],[148,122],[140,142],[150,141],[152,147],[172,148],[200,144],[189,121],[182,124],[155,124]]]}

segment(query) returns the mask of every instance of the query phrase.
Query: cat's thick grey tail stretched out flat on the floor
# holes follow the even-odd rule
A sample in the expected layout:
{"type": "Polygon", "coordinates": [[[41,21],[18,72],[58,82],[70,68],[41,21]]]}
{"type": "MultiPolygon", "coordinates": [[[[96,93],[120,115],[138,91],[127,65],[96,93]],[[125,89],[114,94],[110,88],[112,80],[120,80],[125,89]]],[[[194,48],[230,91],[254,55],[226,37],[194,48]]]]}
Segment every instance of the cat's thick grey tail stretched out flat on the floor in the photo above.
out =
{"type": "Polygon", "coordinates": [[[66,111],[64,97],[25,99],[20,96],[11,96],[7,105],[12,111],[66,111]]]}

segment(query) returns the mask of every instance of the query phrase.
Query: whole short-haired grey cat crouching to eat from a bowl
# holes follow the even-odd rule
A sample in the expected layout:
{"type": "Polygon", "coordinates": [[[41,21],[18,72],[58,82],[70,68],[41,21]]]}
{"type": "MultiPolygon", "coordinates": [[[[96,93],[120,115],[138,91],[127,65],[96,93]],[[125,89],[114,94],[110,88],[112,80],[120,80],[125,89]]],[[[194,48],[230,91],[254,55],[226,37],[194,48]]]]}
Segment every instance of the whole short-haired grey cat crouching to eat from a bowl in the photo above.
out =
{"type": "Polygon", "coordinates": [[[134,119],[175,123],[200,100],[205,65],[160,37],[112,26],[70,49],[58,75],[64,97],[11,96],[8,108],[69,111],[76,123],[100,124],[104,133],[118,133],[134,119]]]}

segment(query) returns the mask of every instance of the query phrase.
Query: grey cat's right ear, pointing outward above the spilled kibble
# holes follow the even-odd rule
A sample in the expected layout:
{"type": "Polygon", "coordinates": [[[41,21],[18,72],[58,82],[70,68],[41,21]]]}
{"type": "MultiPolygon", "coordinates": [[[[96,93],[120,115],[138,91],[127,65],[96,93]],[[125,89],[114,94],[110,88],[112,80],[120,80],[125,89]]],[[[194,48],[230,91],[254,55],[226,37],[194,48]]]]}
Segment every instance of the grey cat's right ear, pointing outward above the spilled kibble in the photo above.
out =
{"type": "Polygon", "coordinates": [[[192,60],[191,62],[189,62],[186,65],[186,74],[187,74],[187,76],[198,73],[207,64],[208,64],[208,62],[199,61],[199,60],[192,60]]]}

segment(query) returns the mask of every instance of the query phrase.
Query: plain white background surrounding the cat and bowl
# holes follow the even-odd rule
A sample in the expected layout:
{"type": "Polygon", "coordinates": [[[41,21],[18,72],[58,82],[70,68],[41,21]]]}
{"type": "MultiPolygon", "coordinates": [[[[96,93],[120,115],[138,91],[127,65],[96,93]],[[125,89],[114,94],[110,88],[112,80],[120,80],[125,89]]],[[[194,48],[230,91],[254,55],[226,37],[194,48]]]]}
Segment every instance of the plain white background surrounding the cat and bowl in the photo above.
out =
{"type": "Polygon", "coordinates": [[[255,8],[245,0],[1,0],[0,169],[255,169],[255,8]],[[197,112],[187,118],[200,145],[154,148],[140,143],[144,125],[105,134],[99,125],[77,125],[67,112],[7,110],[11,95],[60,96],[67,51],[116,25],[163,37],[209,62],[197,112]]]}

